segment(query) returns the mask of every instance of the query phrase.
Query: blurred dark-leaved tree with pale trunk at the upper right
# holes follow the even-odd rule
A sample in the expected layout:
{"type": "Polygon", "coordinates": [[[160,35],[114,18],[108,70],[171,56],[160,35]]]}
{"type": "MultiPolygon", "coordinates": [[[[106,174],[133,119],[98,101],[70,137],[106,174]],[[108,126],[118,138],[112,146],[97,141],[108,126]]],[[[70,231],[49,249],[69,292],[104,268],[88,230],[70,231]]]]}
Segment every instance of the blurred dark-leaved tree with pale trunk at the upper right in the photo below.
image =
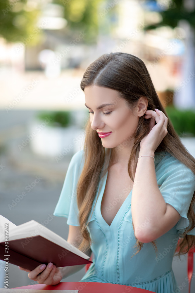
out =
{"type": "Polygon", "coordinates": [[[182,68],[182,86],[178,88],[179,90],[174,91],[173,100],[177,108],[195,109],[195,82],[194,79],[189,78],[191,72],[194,73],[195,71],[195,1],[169,0],[162,2],[162,4],[156,0],[154,2],[159,7],[158,12],[161,14],[162,20],[155,25],[146,26],[144,30],[155,29],[165,25],[175,28],[176,26],[180,26],[181,21],[183,21],[186,33],[186,52],[182,68]],[[168,4],[168,7],[163,3],[168,4]]]}

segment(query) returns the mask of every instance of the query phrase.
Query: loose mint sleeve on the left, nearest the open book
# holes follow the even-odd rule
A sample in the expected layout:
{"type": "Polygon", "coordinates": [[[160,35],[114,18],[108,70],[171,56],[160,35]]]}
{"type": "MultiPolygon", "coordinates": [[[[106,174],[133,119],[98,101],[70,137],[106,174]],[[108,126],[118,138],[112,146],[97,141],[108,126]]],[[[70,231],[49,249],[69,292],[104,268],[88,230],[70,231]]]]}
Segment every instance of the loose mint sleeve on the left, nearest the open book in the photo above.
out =
{"type": "Polygon", "coordinates": [[[77,151],[70,160],[61,194],[54,210],[54,216],[66,217],[67,224],[73,226],[80,226],[76,188],[84,165],[82,155],[83,150],[77,151]]]}

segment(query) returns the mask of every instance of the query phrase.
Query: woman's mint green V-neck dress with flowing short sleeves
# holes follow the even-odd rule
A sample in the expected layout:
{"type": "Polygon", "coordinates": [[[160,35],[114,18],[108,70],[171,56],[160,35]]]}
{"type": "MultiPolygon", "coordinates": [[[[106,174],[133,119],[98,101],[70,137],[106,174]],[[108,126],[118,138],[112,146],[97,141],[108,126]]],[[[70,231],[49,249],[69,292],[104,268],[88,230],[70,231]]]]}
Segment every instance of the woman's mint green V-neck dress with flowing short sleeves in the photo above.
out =
{"type": "MultiPolygon", "coordinates": [[[[79,226],[77,219],[76,185],[84,164],[83,150],[77,151],[70,161],[64,185],[54,215],[68,218],[67,224],[79,226]]],[[[87,229],[92,239],[93,263],[80,281],[122,284],[157,293],[179,292],[172,259],[178,237],[189,226],[187,212],[195,190],[195,175],[187,166],[167,152],[155,153],[155,170],[159,190],[165,202],[172,205],[181,215],[177,224],[156,239],[158,253],[151,243],[144,243],[134,257],[136,239],[132,226],[131,192],[118,210],[111,226],[101,215],[108,172],[100,176],[95,209],[89,214],[87,229]]],[[[117,198],[115,199],[117,200],[117,198]]],[[[113,200],[112,204],[115,204],[113,200]]],[[[149,219],[146,219],[149,221],[149,219]]],[[[146,221],[147,222],[147,221],[146,221]]],[[[144,229],[144,223],[142,225],[144,229]]],[[[195,235],[195,229],[190,232],[195,235]]]]}

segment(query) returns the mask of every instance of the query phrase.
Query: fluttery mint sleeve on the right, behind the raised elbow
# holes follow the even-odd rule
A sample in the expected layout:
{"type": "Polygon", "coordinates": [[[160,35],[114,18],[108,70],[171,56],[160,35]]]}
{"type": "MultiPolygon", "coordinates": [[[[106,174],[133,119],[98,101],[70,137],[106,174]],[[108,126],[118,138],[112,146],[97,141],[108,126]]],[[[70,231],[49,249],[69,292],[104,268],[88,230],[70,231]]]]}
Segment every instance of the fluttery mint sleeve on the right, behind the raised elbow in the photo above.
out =
{"type": "MultiPolygon", "coordinates": [[[[181,218],[175,228],[182,234],[189,226],[187,213],[195,190],[195,175],[190,168],[173,156],[168,156],[164,160],[163,173],[159,190],[165,202],[172,205],[180,214],[181,218]]],[[[188,234],[195,235],[195,228],[188,234]]]]}

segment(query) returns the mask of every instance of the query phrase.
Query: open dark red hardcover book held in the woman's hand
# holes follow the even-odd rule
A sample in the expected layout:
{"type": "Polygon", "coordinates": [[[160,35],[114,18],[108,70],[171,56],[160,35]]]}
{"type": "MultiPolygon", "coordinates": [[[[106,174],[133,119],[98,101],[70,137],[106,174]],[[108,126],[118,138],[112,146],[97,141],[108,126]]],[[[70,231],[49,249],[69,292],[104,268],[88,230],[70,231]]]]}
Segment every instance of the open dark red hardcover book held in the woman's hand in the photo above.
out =
{"type": "Polygon", "coordinates": [[[50,262],[56,267],[92,263],[85,253],[34,220],[19,226],[10,224],[0,234],[1,260],[28,270],[50,262]]]}

